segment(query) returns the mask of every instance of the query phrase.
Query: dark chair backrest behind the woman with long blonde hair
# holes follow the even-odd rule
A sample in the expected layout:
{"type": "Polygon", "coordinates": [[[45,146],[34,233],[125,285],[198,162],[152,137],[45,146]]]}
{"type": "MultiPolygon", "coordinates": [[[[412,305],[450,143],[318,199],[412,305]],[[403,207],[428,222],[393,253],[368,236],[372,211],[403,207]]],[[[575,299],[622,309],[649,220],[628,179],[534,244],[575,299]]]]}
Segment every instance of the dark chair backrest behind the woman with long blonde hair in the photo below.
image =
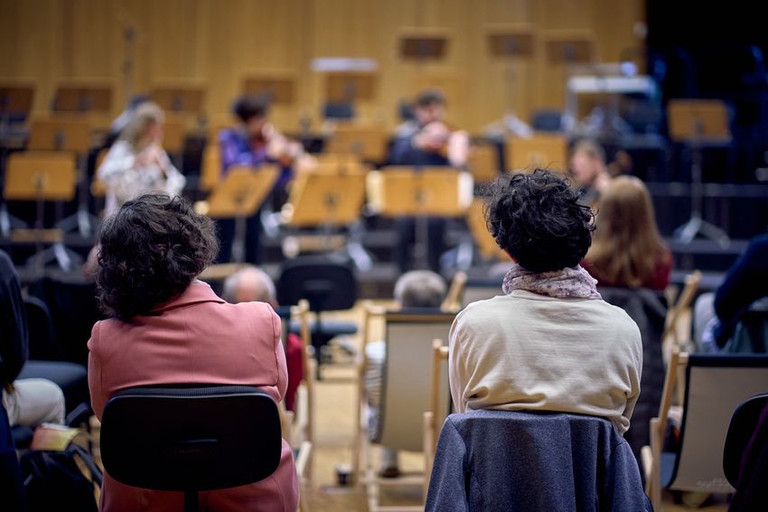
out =
{"type": "Polygon", "coordinates": [[[661,336],[667,318],[667,304],[663,293],[645,288],[600,288],[606,303],[624,310],[640,329],[642,338],[642,393],[632,412],[630,430],[624,439],[630,443],[632,452],[640,461],[640,451],[651,442],[649,424],[659,411],[661,394],[664,389],[664,358],[661,353],[661,336]]]}

